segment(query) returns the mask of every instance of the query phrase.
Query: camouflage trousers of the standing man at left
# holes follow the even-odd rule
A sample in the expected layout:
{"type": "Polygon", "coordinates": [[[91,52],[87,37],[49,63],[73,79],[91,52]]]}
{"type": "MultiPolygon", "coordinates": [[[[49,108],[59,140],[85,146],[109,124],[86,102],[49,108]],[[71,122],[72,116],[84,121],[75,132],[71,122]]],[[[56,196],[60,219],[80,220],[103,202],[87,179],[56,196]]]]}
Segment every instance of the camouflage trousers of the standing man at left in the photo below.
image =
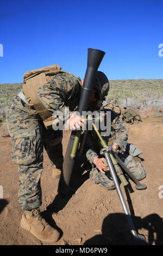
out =
{"type": "Polygon", "coordinates": [[[51,146],[49,141],[62,137],[62,131],[47,131],[35,110],[18,96],[9,107],[7,125],[12,138],[12,160],[19,165],[18,202],[23,210],[35,209],[42,203],[43,146],[52,164],[61,168],[62,144],[51,146]]]}

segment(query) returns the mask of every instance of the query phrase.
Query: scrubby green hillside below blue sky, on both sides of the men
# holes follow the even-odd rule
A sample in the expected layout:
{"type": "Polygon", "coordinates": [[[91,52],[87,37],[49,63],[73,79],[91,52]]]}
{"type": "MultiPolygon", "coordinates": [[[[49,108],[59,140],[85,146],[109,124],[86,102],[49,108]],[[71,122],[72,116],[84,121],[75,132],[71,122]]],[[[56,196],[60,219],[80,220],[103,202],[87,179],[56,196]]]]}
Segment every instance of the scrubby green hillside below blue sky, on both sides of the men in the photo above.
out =
{"type": "MultiPolygon", "coordinates": [[[[0,105],[9,105],[21,88],[22,83],[0,84],[0,105]]],[[[140,104],[141,108],[148,105],[159,108],[163,102],[163,79],[110,80],[106,101],[127,107],[140,104]]]]}

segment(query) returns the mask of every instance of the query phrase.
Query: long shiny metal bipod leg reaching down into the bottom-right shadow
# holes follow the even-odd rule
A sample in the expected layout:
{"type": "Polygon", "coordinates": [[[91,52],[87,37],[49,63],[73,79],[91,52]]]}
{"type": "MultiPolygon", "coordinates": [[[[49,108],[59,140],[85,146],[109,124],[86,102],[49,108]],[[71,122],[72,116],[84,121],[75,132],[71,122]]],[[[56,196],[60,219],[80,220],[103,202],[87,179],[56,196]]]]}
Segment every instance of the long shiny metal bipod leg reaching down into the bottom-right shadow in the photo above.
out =
{"type": "Polygon", "coordinates": [[[122,191],[121,191],[121,188],[120,188],[120,184],[118,182],[117,175],[115,173],[115,169],[112,166],[112,162],[111,162],[108,150],[109,149],[103,148],[101,150],[101,154],[104,155],[105,160],[106,160],[106,162],[107,162],[107,164],[109,166],[110,174],[111,174],[112,180],[114,181],[118,197],[120,198],[120,203],[122,205],[123,211],[126,214],[126,218],[127,218],[128,223],[129,223],[129,227],[130,227],[131,233],[135,236],[136,239],[139,239],[139,237],[138,237],[138,235],[136,233],[135,227],[134,227],[133,220],[131,219],[129,210],[128,210],[126,202],[124,200],[124,197],[123,197],[123,194],[122,194],[122,191]]]}

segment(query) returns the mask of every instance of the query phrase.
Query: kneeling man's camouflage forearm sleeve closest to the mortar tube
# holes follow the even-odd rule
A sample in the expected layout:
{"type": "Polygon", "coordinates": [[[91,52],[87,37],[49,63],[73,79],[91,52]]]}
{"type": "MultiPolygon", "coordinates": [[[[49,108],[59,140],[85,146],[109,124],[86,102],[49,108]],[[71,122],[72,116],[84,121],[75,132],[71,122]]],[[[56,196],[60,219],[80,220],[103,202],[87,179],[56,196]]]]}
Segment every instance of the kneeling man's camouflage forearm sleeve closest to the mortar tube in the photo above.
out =
{"type": "Polygon", "coordinates": [[[93,144],[92,144],[92,139],[91,139],[90,132],[87,133],[87,137],[86,137],[86,142],[85,142],[85,147],[84,147],[84,152],[83,153],[86,155],[87,160],[93,166],[93,159],[95,159],[95,157],[98,157],[98,155],[96,154],[95,150],[93,149],[93,144]]]}

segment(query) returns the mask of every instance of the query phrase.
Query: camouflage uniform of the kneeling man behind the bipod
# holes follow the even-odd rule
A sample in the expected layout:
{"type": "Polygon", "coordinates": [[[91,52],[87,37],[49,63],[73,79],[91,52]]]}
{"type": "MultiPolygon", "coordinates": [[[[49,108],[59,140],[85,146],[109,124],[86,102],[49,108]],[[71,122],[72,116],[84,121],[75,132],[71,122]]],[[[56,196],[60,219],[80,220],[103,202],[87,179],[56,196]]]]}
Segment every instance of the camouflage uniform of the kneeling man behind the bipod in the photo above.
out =
{"type": "MultiPolygon", "coordinates": [[[[122,119],[118,116],[118,114],[111,109],[105,109],[105,111],[111,112],[111,133],[110,136],[105,137],[105,141],[107,144],[118,144],[120,153],[118,156],[124,162],[124,164],[129,168],[130,172],[135,175],[138,180],[142,180],[146,177],[145,169],[142,166],[141,160],[139,157],[133,157],[131,154],[131,149],[134,148],[133,144],[129,144],[128,141],[128,131],[126,129],[126,124],[122,121],[122,119]],[[129,154],[130,153],[130,154],[129,154]]],[[[99,154],[99,146],[97,144],[98,138],[94,132],[91,132],[87,137],[86,142],[86,157],[89,162],[92,164],[93,168],[90,172],[90,179],[94,181],[96,184],[104,186],[108,190],[112,190],[115,188],[114,182],[112,181],[110,172],[105,172],[105,174],[99,172],[99,170],[92,163],[95,157],[103,157],[99,154]]],[[[137,149],[139,154],[142,152],[137,149]]],[[[134,154],[133,154],[134,155],[134,154]]]]}

